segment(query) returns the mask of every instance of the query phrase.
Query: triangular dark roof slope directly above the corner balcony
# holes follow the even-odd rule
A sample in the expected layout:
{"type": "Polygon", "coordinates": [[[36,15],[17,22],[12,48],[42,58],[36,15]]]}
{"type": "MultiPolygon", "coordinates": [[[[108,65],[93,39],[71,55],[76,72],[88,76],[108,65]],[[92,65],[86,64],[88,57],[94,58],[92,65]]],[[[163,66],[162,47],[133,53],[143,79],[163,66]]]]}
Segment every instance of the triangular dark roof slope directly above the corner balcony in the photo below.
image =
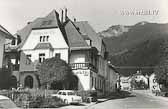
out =
{"type": "Polygon", "coordinates": [[[71,20],[67,20],[64,29],[71,50],[90,48],[71,20]]]}

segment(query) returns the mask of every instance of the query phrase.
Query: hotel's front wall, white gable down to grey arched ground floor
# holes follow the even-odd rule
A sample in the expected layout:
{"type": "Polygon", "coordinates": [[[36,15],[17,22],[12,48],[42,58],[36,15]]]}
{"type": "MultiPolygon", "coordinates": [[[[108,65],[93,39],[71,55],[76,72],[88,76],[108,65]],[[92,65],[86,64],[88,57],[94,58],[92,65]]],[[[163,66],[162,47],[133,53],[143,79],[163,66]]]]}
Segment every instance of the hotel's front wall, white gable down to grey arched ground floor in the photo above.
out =
{"type": "MultiPolygon", "coordinates": [[[[45,42],[44,42],[45,43],[45,42]]],[[[20,56],[20,83],[24,85],[26,76],[33,77],[33,87],[38,87],[37,78],[34,75],[36,71],[36,65],[39,62],[39,54],[44,53],[45,59],[55,57],[56,53],[60,53],[60,58],[68,63],[69,56],[69,47],[62,35],[62,32],[59,28],[50,28],[50,29],[38,29],[32,30],[27,40],[25,41],[23,47],[21,48],[20,56]],[[52,49],[34,49],[37,44],[43,43],[40,42],[40,36],[49,36],[47,43],[50,43],[52,49]],[[26,63],[26,55],[31,55],[31,62],[26,63]]]]}

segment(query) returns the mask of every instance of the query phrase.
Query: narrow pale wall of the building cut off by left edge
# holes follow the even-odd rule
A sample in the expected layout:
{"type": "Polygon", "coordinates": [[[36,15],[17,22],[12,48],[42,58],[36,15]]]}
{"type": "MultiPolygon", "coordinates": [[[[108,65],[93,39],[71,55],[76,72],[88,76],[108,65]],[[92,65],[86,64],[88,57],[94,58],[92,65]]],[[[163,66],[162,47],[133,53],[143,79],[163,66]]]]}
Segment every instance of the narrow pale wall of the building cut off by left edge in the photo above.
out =
{"type": "Polygon", "coordinates": [[[3,64],[4,44],[5,44],[5,37],[3,36],[3,34],[0,34],[0,68],[2,68],[3,64]]]}

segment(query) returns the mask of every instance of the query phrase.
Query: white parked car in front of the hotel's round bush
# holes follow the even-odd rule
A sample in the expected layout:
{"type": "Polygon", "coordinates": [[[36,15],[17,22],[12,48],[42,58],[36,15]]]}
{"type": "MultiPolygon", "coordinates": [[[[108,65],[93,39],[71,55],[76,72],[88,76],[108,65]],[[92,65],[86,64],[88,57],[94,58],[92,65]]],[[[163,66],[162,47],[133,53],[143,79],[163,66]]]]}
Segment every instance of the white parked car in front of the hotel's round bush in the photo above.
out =
{"type": "Polygon", "coordinates": [[[60,98],[66,104],[80,104],[82,102],[82,97],[77,96],[73,90],[60,90],[51,96],[60,98]]]}

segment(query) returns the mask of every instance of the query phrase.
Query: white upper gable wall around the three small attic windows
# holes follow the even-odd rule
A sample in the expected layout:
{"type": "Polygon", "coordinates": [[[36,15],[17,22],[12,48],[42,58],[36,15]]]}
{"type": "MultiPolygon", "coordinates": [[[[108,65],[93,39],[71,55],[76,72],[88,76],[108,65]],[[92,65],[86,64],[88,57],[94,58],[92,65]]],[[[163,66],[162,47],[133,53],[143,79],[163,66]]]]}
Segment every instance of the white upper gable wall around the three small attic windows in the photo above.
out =
{"type": "Polygon", "coordinates": [[[49,36],[48,42],[51,43],[54,49],[56,48],[68,48],[68,45],[64,39],[59,28],[52,29],[38,29],[32,30],[25,44],[21,48],[22,50],[34,49],[35,46],[40,43],[40,36],[49,36]],[[33,40],[32,40],[33,39],[33,40]]]}

